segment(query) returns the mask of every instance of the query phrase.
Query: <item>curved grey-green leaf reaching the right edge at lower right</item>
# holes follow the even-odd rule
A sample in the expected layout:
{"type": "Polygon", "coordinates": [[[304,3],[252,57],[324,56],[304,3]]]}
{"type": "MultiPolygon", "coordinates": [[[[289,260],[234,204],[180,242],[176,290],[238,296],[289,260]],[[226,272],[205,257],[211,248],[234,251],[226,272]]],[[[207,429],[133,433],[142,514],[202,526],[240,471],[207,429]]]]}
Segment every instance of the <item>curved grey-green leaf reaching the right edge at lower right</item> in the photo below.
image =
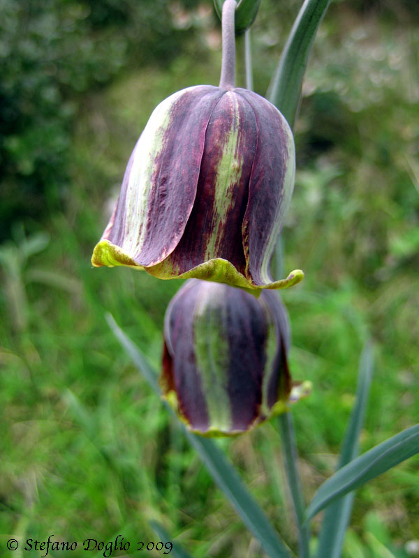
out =
{"type": "Polygon", "coordinates": [[[399,432],[342,467],[318,489],[306,510],[306,521],[372,478],[419,453],[419,424],[399,432]]]}

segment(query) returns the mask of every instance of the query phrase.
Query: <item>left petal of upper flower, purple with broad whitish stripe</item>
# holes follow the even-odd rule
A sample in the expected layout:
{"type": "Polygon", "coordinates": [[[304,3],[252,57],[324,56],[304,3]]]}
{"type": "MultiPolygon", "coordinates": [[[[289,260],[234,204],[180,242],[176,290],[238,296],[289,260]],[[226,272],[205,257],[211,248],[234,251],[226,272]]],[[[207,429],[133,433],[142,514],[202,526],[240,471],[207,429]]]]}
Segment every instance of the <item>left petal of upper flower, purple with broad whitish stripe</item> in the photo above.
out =
{"type": "Polygon", "coordinates": [[[156,107],[126,167],[94,266],[153,266],[175,249],[196,197],[207,124],[222,95],[218,87],[190,87],[156,107]]]}

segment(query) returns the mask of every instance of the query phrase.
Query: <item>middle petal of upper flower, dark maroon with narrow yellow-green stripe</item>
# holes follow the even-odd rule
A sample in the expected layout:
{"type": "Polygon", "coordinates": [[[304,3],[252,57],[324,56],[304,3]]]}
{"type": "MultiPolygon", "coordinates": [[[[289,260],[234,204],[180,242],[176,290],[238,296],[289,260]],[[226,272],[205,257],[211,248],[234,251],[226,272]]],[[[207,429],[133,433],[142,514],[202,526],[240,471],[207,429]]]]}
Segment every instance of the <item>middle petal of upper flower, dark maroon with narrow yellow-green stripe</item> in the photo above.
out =
{"type": "Polygon", "coordinates": [[[256,150],[256,119],[248,103],[225,91],[205,134],[196,199],[184,235],[157,270],[180,276],[211,259],[226,259],[244,275],[242,223],[256,150]]]}

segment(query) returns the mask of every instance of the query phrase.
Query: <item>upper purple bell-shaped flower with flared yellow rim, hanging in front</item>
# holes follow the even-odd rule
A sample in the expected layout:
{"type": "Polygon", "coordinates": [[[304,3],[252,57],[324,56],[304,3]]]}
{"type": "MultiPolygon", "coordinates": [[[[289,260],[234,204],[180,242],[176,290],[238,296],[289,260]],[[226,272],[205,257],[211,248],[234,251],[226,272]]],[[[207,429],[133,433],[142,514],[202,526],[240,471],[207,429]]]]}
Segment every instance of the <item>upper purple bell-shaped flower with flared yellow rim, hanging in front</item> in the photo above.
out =
{"type": "Polygon", "coordinates": [[[277,281],[269,272],[293,191],[293,134],[274,105],[235,88],[234,33],[233,47],[223,45],[219,87],[182,89],[152,113],[94,266],[256,291],[302,279],[300,270],[277,281]]]}

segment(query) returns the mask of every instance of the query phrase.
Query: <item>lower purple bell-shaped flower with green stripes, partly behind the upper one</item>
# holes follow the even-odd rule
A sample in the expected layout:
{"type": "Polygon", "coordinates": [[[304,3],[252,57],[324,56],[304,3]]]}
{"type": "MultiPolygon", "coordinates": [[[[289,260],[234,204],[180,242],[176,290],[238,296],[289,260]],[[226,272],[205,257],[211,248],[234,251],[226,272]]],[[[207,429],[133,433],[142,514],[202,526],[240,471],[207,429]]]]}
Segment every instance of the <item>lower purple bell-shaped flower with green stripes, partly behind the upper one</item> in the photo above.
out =
{"type": "Polygon", "coordinates": [[[164,332],[163,395],[193,432],[246,432],[307,387],[292,390],[288,317],[274,292],[256,299],[191,279],[170,302],[164,332]]]}

